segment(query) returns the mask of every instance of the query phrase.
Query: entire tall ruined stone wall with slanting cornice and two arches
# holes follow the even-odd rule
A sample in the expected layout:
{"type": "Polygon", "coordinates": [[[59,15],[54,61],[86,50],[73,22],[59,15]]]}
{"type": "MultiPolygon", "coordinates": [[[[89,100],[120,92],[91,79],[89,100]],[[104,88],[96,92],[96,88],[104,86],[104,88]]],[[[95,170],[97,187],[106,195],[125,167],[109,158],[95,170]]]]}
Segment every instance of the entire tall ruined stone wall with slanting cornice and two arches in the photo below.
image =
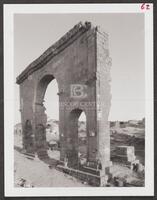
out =
{"type": "Polygon", "coordinates": [[[18,77],[20,85],[23,147],[47,155],[43,105],[48,84],[56,79],[59,89],[60,160],[78,169],[78,118],[87,119],[86,169],[100,164],[100,185],[110,166],[110,66],[108,35],[91,23],[79,23],[32,62],[18,77]],[[28,132],[27,132],[28,130],[28,132]]]}

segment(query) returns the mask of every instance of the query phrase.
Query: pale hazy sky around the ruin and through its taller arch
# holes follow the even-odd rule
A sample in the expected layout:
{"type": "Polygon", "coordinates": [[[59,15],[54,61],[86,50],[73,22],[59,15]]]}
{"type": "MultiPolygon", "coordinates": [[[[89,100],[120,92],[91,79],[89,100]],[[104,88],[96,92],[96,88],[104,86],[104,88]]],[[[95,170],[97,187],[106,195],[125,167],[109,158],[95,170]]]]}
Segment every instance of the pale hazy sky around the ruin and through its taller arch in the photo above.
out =
{"type": "MultiPolygon", "coordinates": [[[[17,14],[14,16],[14,77],[79,21],[100,25],[109,34],[112,102],[109,120],[145,116],[143,14],[17,14]]],[[[46,91],[50,118],[58,118],[57,84],[46,91]]],[[[20,122],[19,86],[15,84],[15,123],[20,122]]]]}

